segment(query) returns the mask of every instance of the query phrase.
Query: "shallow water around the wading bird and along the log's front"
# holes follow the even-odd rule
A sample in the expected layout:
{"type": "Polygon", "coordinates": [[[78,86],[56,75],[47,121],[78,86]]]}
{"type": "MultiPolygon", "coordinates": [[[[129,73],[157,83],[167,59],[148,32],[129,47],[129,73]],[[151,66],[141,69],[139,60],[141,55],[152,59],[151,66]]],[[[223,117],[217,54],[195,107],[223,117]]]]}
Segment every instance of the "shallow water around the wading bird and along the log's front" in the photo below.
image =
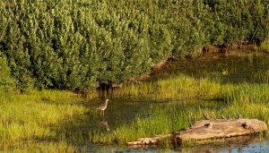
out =
{"type": "MultiPolygon", "coordinates": [[[[89,107],[96,108],[102,99],[91,102],[89,107]]],[[[66,132],[72,132],[73,135],[87,135],[89,132],[113,132],[118,127],[125,123],[134,121],[137,115],[147,117],[151,115],[152,110],[158,111],[160,109],[183,110],[186,107],[199,109],[201,107],[208,109],[221,109],[225,104],[219,101],[204,101],[204,100],[162,100],[154,101],[151,99],[128,98],[118,99],[111,98],[108,103],[105,115],[100,115],[100,112],[93,111],[90,115],[84,115],[75,118],[71,121],[65,122],[66,132]],[[216,105],[217,104],[217,105],[216,105]],[[109,130],[108,130],[109,129],[109,130]],[[84,133],[84,134],[83,134],[84,133]]],[[[171,119],[173,120],[173,119],[171,119]]],[[[231,142],[221,141],[221,144],[214,145],[199,145],[189,148],[176,149],[161,149],[158,147],[150,148],[130,148],[118,145],[105,145],[91,143],[91,136],[89,137],[73,137],[70,142],[79,146],[84,152],[269,152],[268,143],[266,140],[260,140],[258,136],[244,137],[239,140],[231,142]]]]}

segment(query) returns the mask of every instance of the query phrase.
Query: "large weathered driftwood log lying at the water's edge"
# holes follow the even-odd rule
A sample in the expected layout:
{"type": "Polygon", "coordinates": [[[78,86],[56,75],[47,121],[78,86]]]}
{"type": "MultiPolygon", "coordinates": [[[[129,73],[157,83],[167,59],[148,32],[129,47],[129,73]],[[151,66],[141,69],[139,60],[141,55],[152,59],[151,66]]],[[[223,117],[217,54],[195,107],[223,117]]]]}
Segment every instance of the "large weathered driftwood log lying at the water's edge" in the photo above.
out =
{"type": "Polygon", "coordinates": [[[172,134],[155,136],[153,138],[141,138],[133,142],[127,142],[127,145],[154,145],[158,144],[161,139],[168,137],[171,140],[177,141],[230,138],[267,130],[267,125],[263,121],[257,119],[241,119],[240,115],[238,118],[201,120],[185,131],[173,132],[172,134]]]}

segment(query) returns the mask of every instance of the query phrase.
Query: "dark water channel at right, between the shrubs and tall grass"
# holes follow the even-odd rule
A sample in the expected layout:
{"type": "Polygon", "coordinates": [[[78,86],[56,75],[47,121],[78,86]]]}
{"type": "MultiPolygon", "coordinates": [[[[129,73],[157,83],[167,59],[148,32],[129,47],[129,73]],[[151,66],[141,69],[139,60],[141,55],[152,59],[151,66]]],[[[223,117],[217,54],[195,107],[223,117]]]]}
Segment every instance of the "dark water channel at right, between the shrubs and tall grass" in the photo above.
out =
{"type": "Polygon", "coordinates": [[[219,79],[222,83],[268,83],[268,55],[230,55],[229,58],[199,58],[169,62],[152,72],[151,80],[183,73],[195,78],[219,79]]]}

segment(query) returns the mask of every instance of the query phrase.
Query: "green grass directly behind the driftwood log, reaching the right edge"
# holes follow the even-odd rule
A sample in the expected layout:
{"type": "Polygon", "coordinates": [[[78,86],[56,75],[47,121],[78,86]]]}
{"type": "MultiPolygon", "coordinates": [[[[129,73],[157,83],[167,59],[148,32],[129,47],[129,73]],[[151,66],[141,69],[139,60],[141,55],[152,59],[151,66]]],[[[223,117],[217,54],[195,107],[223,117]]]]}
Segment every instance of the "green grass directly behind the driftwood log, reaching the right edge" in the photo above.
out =
{"type": "MultiPolygon", "coordinates": [[[[233,118],[239,113],[244,118],[258,118],[268,124],[269,105],[249,104],[249,105],[222,105],[220,108],[201,106],[175,106],[171,108],[157,108],[152,110],[148,117],[137,116],[133,123],[126,124],[117,128],[114,132],[98,132],[91,137],[94,142],[125,144],[127,141],[138,140],[144,137],[153,137],[154,135],[165,135],[178,130],[186,129],[192,123],[204,119],[204,114],[211,118],[221,118],[221,115],[231,115],[233,118]]],[[[268,134],[267,134],[268,136],[268,134]]],[[[219,140],[218,140],[219,141],[219,140]]],[[[208,143],[208,140],[199,141],[199,143],[208,143]]],[[[191,145],[194,141],[184,141],[183,146],[191,145]]],[[[167,140],[161,141],[163,147],[171,146],[167,140]]]]}

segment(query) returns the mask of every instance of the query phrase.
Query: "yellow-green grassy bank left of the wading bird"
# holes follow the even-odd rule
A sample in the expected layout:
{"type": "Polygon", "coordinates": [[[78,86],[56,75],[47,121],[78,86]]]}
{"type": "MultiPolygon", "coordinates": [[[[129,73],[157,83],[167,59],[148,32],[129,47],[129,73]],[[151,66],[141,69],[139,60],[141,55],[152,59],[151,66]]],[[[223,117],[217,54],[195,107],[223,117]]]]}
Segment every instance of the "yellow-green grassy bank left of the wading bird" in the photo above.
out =
{"type": "Polygon", "coordinates": [[[84,106],[75,105],[82,98],[56,90],[23,95],[0,93],[0,150],[73,152],[76,149],[51,127],[63,132],[60,123],[85,114],[84,106]]]}

